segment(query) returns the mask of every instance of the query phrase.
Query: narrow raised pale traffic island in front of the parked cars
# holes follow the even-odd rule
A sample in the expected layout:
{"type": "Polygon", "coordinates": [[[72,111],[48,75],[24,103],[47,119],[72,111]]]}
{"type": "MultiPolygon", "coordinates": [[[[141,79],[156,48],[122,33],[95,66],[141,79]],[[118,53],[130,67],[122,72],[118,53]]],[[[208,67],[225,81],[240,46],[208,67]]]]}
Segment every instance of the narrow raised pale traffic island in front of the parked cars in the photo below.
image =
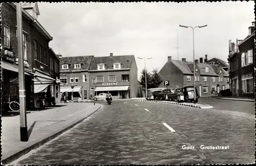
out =
{"type": "Polygon", "coordinates": [[[178,103],[178,102],[169,102],[169,101],[159,101],[159,100],[137,100],[138,102],[159,102],[159,103],[167,103],[167,104],[178,104],[183,106],[195,107],[195,108],[213,108],[210,105],[206,105],[203,103],[178,103]]]}

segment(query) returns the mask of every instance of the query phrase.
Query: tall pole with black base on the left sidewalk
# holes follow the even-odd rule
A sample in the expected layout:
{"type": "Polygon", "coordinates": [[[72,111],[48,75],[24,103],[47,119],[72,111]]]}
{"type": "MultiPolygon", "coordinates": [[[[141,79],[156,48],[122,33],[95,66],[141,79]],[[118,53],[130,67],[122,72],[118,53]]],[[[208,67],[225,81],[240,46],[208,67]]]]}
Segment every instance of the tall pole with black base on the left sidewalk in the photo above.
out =
{"type": "Polygon", "coordinates": [[[18,37],[18,88],[19,88],[19,122],[20,141],[28,141],[27,112],[26,112],[26,90],[24,75],[23,55],[23,27],[22,27],[22,2],[16,3],[17,15],[17,37],[18,37]]]}

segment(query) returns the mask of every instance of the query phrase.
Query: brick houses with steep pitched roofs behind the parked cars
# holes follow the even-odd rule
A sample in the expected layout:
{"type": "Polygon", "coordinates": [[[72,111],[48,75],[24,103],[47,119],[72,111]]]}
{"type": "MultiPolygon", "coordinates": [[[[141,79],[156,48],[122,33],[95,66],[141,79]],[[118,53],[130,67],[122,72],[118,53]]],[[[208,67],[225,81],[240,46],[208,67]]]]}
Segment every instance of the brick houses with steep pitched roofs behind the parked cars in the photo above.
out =
{"type": "MultiPolygon", "coordinates": [[[[212,65],[203,63],[202,60],[203,58],[200,58],[200,61],[195,60],[195,81],[200,96],[209,96],[211,90],[218,92],[218,90],[220,90],[220,88],[218,88],[220,85],[222,85],[221,87],[224,85],[224,87],[227,88],[228,82],[226,82],[223,75],[224,69],[222,69],[221,66],[216,67],[218,69],[214,69],[212,65]],[[219,72],[220,70],[221,72],[219,72]]],[[[169,88],[172,89],[194,85],[194,64],[193,62],[187,62],[185,58],[178,61],[172,60],[172,57],[169,56],[168,61],[159,71],[159,74],[163,81],[169,81],[169,88]]],[[[227,76],[225,75],[225,77],[227,76]]],[[[159,87],[164,87],[164,83],[159,87]]]]}

